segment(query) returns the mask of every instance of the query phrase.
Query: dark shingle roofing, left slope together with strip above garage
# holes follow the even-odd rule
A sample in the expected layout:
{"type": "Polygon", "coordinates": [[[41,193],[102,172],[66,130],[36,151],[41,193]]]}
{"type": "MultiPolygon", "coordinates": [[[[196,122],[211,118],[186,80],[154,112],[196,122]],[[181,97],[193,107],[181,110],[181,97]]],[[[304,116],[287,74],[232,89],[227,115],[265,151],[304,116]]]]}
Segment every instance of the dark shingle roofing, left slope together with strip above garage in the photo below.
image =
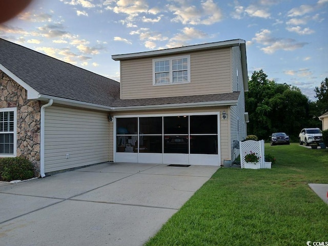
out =
{"type": "Polygon", "coordinates": [[[42,95],[107,107],[170,105],[237,100],[240,92],[120,99],[115,80],[0,38],[0,64],[42,95]]]}

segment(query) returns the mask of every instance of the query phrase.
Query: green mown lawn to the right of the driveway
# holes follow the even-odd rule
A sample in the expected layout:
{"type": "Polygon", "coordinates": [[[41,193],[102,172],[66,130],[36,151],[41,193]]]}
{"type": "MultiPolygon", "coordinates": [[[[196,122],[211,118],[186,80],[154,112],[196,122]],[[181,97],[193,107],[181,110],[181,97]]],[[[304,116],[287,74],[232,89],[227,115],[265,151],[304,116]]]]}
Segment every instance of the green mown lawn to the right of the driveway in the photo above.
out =
{"type": "Polygon", "coordinates": [[[220,168],[145,245],[306,245],[328,241],[328,149],[269,146],[272,169],[220,168]]]}

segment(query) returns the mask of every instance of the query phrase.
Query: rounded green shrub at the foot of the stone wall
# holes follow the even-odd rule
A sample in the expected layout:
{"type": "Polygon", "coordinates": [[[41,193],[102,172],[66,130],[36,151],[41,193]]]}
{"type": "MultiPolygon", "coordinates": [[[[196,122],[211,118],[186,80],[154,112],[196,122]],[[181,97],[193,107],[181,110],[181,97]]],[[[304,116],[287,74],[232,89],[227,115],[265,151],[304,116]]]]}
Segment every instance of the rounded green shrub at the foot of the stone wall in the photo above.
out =
{"type": "Polygon", "coordinates": [[[0,159],[0,180],[24,180],[35,176],[35,168],[31,161],[22,157],[0,159]]]}

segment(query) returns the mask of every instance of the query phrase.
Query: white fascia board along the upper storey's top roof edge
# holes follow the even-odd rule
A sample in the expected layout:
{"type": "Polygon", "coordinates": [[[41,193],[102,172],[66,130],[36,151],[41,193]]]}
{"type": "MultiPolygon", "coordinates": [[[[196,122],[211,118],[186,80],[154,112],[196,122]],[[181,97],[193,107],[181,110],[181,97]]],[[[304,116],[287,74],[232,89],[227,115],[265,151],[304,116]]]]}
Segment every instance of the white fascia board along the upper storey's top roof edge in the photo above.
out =
{"type": "Polygon", "coordinates": [[[142,57],[147,57],[147,56],[169,55],[169,54],[174,54],[174,53],[179,53],[179,52],[197,51],[197,50],[213,49],[213,48],[233,47],[233,46],[239,46],[240,44],[244,44],[244,43],[245,43],[245,40],[233,39],[233,40],[216,42],[216,43],[183,46],[183,47],[171,48],[171,49],[154,50],[154,51],[146,51],[146,52],[138,52],[138,53],[130,53],[130,54],[112,55],[112,59],[113,60],[124,60],[124,59],[142,58],[142,57]]]}

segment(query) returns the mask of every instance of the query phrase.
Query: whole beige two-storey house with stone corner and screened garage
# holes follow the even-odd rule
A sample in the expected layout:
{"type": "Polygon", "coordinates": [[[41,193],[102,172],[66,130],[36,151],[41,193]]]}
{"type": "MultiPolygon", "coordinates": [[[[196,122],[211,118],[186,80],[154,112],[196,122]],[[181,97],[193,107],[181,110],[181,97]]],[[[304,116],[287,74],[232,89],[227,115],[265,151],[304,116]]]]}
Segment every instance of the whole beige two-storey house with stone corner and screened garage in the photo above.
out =
{"type": "Polygon", "coordinates": [[[246,136],[245,41],[113,55],[120,83],[0,39],[0,157],[219,166],[246,136]]]}

